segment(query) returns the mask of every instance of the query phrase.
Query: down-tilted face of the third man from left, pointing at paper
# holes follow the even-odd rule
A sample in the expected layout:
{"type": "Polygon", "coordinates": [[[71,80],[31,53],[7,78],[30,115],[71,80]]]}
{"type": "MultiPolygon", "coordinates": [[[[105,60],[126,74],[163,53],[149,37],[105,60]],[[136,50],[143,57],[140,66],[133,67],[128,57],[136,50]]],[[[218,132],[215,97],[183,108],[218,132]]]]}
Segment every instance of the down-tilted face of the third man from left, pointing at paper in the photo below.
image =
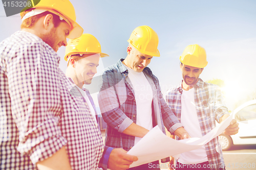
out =
{"type": "Polygon", "coordinates": [[[150,64],[152,58],[153,56],[142,54],[136,48],[129,45],[127,47],[127,57],[123,60],[123,63],[134,71],[141,72],[150,64]]]}

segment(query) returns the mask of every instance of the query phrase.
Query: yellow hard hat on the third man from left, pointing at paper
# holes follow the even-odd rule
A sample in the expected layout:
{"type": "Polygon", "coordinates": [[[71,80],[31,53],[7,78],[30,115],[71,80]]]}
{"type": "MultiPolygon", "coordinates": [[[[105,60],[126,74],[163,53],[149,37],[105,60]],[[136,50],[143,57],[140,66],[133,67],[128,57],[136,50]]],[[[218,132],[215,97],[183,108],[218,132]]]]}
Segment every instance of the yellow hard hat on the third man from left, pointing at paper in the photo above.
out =
{"type": "Polygon", "coordinates": [[[140,26],[134,29],[129,40],[127,41],[140,53],[149,56],[160,56],[160,53],[157,50],[158,35],[152,28],[148,26],[140,26]]]}

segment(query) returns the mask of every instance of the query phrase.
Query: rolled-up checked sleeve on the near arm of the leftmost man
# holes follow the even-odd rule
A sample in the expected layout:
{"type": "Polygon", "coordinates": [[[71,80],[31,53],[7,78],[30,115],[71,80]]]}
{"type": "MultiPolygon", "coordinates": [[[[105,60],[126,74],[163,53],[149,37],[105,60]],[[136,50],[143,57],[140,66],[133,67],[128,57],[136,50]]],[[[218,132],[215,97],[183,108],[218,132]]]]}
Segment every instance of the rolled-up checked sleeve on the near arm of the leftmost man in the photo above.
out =
{"type": "Polygon", "coordinates": [[[58,127],[59,58],[42,41],[15,49],[15,54],[12,51],[7,57],[7,77],[12,115],[19,131],[17,150],[35,164],[67,143],[58,127]]]}

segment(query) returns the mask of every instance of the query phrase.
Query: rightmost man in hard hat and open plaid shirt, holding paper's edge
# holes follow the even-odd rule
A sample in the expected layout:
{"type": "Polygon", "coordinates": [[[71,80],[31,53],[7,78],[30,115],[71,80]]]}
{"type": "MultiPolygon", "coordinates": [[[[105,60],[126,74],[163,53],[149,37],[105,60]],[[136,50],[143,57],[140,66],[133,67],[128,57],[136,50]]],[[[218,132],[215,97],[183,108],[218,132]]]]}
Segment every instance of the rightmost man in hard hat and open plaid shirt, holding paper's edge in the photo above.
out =
{"type": "MultiPolygon", "coordinates": [[[[198,44],[188,45],[180,57],[182,82],[166,92],[166,103],[191,137],[202,137],[229,116],[217,85],[199,78],[207,65],[206,52],[198,44]]],[[[238,123],[232,120],[225,134],[238,133],[238,123]]],[[[178,137],[179,139],[179,137],[178,137]]],[[[200,149],[182,153],[177,169],[225,169],[218,137],[200,149]]]]}

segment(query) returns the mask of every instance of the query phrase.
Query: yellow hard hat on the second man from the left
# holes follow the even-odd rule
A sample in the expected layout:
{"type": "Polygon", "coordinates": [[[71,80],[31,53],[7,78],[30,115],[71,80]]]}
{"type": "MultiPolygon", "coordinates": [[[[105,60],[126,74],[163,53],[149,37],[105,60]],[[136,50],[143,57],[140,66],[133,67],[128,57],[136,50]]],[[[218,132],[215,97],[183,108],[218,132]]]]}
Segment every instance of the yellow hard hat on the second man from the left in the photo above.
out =
{"type": "Polygon", "coordinates": [[[107,57],[108,54],[101,53],[101,46],[97,38],[91,34],[82,34],[77,39],[70,39],[66,46],[65,60],[73,54],[100,54],[100,57],[107,57]]]}

